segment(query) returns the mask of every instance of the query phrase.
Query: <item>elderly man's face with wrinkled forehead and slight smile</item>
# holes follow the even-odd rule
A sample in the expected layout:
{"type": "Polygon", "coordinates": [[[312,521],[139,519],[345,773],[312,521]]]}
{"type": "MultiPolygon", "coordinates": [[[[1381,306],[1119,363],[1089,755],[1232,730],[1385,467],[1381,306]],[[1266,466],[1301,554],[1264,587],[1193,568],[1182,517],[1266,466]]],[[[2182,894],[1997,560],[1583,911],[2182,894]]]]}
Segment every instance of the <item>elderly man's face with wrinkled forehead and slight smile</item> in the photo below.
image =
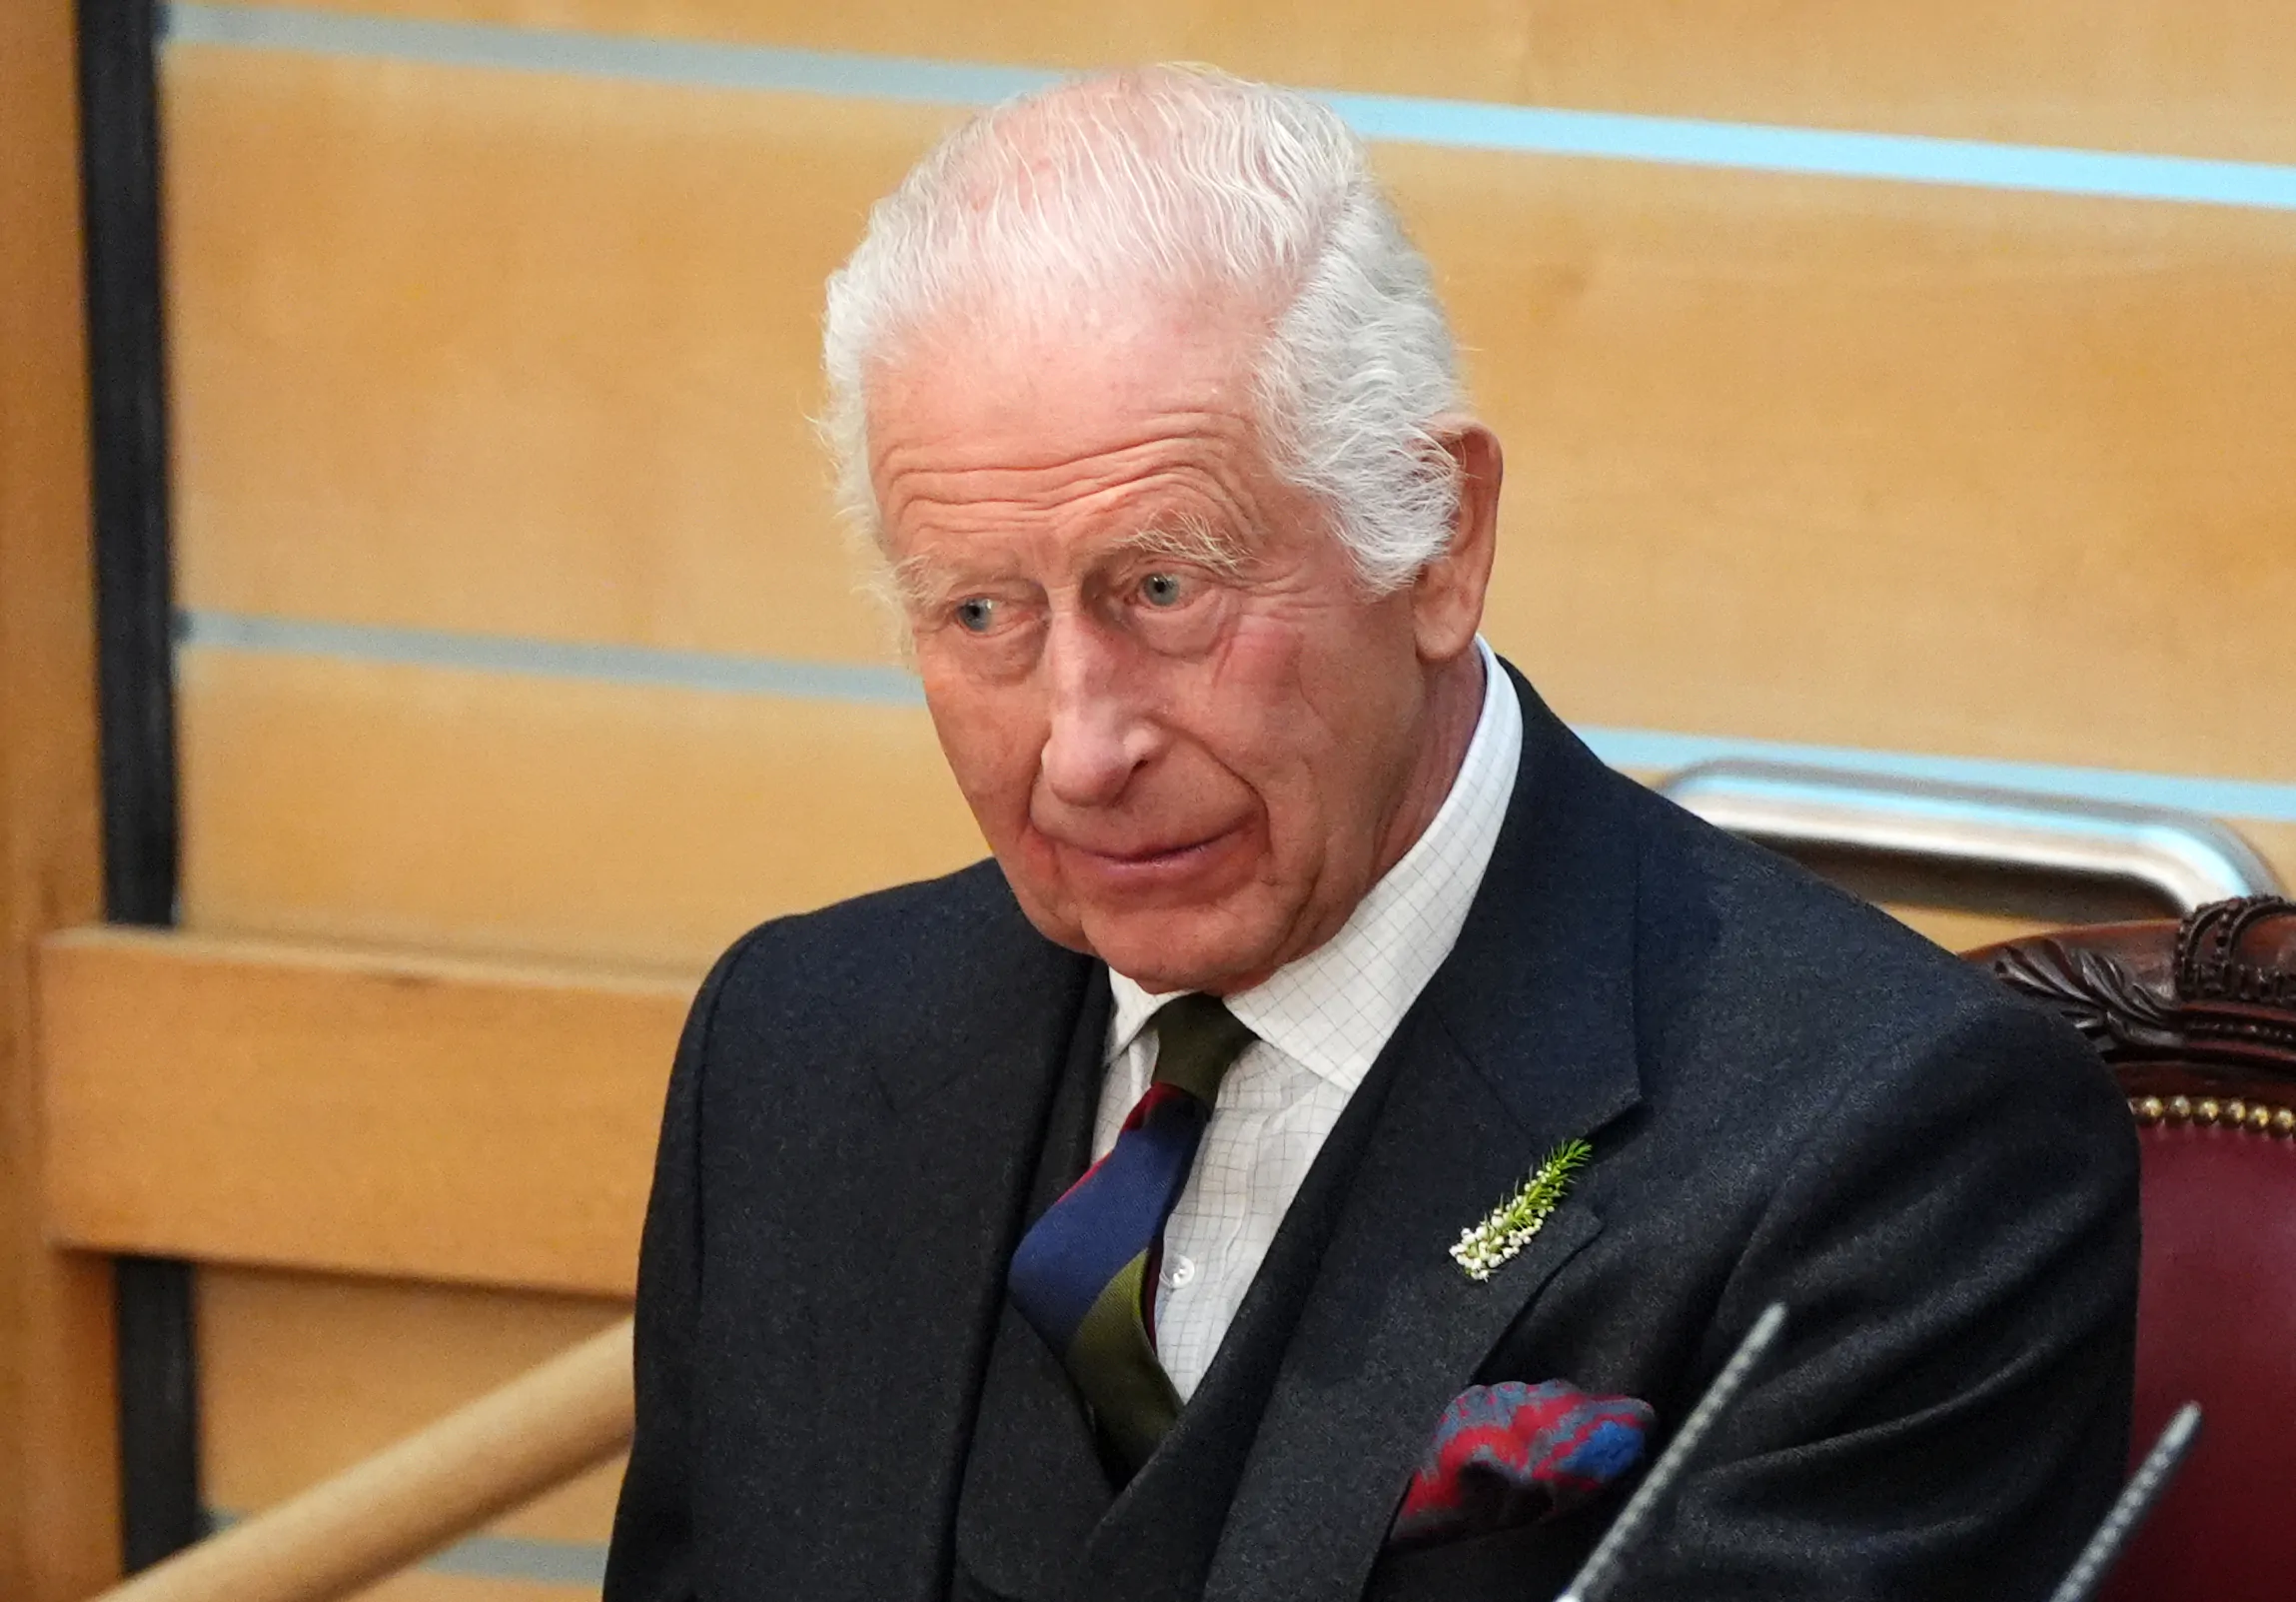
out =
{"type": "Polygon", "coordinates": [[[870,392],[957,785],[1029,918],[1159,991],[1339,932],[1424,778],[1412,588],[1366,597],[1270,468],[1249,349],[1240,317],[1137,310],[944,340],[870,392]]]}

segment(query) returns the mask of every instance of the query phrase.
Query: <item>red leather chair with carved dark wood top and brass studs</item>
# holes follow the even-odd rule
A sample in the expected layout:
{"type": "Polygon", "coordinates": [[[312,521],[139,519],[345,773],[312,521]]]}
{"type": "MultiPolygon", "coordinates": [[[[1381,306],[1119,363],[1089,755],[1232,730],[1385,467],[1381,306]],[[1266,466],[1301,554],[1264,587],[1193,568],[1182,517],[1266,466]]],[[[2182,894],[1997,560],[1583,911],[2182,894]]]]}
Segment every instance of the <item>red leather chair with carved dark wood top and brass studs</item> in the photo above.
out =
{"type": "Polygon", "coordinates": [[[2296,902],[2062,930],[1970,952],[2089,1037],[2144,1173],[2138,1455],[2204,1409],[2112,1602],[2296,1597],[2296,902]]]}

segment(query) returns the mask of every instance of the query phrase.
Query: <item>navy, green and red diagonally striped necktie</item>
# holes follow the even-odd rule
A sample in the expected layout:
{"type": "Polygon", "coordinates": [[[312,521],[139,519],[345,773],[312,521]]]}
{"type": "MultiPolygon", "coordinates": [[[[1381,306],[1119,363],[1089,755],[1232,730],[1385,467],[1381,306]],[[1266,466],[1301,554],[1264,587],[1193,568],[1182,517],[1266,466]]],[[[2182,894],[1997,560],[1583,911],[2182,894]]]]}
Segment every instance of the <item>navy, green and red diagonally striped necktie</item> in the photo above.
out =
{"type": "Polygon", "coordinates": [[[1139,1469],[1180,1416],[1155,1356],[1155,1276],[1219,1081],[1251,1031],[1217,996],[1178,996],[1148,1024],[1155,1076],[1116,1145],[1068,1187],[1013,1253],[1013,1306],[1093,1405],[1107,1448],[1139,1469]]]}

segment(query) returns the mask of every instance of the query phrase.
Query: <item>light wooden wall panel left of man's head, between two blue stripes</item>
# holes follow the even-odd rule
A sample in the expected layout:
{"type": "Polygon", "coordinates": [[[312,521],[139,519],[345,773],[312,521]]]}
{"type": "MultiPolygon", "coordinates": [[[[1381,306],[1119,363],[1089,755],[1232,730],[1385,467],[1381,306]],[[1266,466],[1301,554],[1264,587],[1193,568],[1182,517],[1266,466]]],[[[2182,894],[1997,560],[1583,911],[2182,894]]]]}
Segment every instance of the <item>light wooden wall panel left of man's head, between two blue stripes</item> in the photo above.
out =
{"type": "Polygon", "coordinates": [[[946,117],[168,53],[188,606],[877,659],[822,280],[946,117]]]}

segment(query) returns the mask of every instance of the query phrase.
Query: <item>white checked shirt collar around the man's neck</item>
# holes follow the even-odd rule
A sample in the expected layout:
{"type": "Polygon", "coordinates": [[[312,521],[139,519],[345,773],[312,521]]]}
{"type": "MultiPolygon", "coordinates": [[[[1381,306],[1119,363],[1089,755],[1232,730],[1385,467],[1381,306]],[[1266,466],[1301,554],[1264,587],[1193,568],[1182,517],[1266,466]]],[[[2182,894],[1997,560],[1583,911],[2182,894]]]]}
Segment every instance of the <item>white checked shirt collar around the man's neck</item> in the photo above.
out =
{"type": "MultiPolygon", "coordinates": [[[[1371,886],[1339,934],[1228,996],[1228,1010],[1254,1035],[1343,1092],[1371,1072],[1458,943],[1515,792],[1522,702],[1490,645],[1481,636],[1474,645],[1483,656],[1483,709],[1435,819],[1371,886]]],[[[1116,1058],[1171,996],[1150,994],[1116,971],[1109,971],[1109,987],[1116,998],[1109,1058],[1116,1058]]]]}

